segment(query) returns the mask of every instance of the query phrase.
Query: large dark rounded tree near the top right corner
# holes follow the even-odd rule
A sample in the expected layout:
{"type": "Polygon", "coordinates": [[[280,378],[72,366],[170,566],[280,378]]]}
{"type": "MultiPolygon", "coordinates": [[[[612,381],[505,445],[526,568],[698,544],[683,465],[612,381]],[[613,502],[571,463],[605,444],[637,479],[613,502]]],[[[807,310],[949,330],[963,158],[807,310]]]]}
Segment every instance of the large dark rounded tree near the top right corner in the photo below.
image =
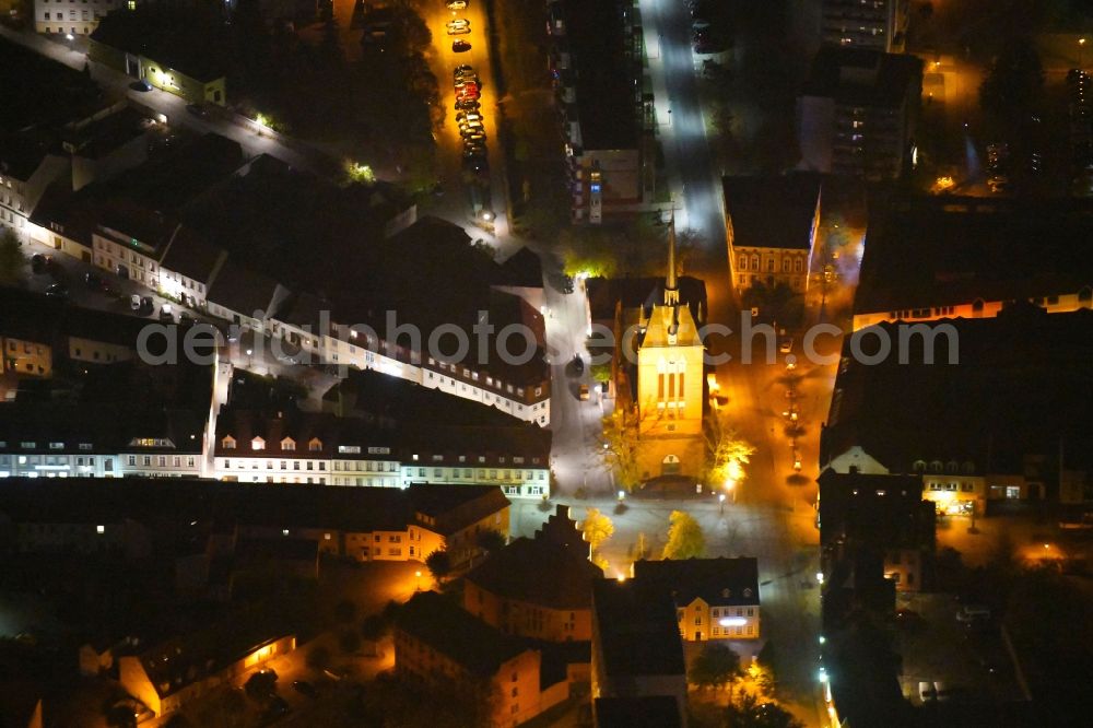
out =
{"type": "Polygon", "coordinates": [[[983,110],[1002,121],[1025,118],[1044,91],[1044,67],[1027,38],[1007,43],[979,85],[983,110]]]}

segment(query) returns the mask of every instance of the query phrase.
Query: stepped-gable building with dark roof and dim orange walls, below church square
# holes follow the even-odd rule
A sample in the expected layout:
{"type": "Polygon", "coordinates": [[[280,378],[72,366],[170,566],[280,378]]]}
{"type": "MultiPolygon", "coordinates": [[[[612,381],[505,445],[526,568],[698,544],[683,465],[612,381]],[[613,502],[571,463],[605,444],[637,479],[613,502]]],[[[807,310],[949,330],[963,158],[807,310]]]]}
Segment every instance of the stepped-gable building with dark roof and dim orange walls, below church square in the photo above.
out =
{"type": "Polygon", "coordinates": [[[534,538],[516,539],[466,575],[463,609],[505,634],[588,641],[592,583],[602,578],[568,506],[557,506],[534,538]]]}

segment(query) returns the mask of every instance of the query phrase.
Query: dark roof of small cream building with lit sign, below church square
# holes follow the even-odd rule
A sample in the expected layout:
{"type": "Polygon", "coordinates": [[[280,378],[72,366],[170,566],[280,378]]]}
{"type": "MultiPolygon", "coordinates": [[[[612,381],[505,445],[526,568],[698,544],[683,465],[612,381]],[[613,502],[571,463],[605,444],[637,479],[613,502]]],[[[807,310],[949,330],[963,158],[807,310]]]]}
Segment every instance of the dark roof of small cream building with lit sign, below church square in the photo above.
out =
{"type": "Polygon", "coordinates": [[[759,604],[759,564],[754,556],[636,561],[634,579],[659,586],[677,606],[702,599],[715,607],[759,604]]]}

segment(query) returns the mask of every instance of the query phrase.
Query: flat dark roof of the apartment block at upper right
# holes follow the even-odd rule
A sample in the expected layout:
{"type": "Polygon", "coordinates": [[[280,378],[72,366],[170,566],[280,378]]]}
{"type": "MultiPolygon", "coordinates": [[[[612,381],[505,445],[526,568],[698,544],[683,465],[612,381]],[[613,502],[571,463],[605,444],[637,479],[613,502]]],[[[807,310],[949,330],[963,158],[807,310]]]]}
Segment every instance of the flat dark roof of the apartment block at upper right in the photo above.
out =
{"type": "Polygon", "coordinates": [[[812,61],[801,95],[892,108],[903,104],[909,86],[921,84],[921,75],[922,61],[915,56],[824,46],[812,61]]]}

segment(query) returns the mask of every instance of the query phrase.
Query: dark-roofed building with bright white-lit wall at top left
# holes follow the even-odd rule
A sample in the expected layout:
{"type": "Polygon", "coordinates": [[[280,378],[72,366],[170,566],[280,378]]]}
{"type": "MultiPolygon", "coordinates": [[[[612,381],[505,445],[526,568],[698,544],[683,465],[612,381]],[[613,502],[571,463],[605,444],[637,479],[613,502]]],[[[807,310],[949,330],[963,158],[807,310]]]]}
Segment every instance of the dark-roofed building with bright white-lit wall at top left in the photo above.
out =
{"type": "Polygon", "coordinates": [[[227,103],[225,68],[218,40],[223,32],[211,19],[185,8],[156,3],[103,17],[91,33],[87,57],[190,104],[227,103]],[[205,36],[208,44],[197,42],[205,36]]]}

